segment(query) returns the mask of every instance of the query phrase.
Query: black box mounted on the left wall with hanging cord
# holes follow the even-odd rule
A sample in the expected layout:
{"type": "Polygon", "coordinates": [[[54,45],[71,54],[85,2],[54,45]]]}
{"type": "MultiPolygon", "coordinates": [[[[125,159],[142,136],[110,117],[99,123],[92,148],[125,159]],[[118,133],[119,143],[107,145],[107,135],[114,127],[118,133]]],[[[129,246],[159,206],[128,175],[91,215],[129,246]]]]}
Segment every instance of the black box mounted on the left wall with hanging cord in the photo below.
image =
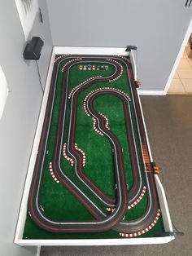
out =
{"type": "Polygon", "coordinates": [[[39,60],[44,42],[39,37],[33,37],[24,49],[24,60],[39,60]]]}

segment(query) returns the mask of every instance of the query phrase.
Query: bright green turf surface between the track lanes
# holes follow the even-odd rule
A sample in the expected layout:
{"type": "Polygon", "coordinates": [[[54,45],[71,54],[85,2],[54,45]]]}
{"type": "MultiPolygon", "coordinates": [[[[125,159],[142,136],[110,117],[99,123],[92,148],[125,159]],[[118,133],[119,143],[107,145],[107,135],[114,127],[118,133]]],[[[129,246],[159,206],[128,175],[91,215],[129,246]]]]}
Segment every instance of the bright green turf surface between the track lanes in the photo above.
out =
{"type": "MultiPolygon", "coordinates": [[[[59,116],[59,100],[62,89],[62,73],[61,68],[66,62],[63,61],[59,66],[59,73],[57,77],[56,90],[55,90],[55,103],[53,108],[53,114],[50,121],[50,133],[48,137],[47,147],[46,147],[46,157],[43,165],[43,173],[41,180],[41,189],[39,194],[39,201],[41,207],[44,210],[45,216],[52,218],[56,221],[86,221],[94,219],[94,217],[89,214],[89,211],[85,209],[76,197],[73,196],[68,189],[63,187],[62,183],[55,183],[52,179],[49,171],[49,163],[52,161],[53,149],[55,144],[55,131],[59,116]]],[[[85,63],[82,63],[85,64],[85,63]]],[[[89,64],[89,63],[88,63],[89,64]]],[[[91,63],[96,64],[96,63],[91,63]]],[[[102,64],[102,63],[101,63],[102,64]]],[[[124,64],[123,64],[124,67],[124,64]]],[[[97,75],[102,75],[107,77],[114,72],[114,67],[109,65],[108,70],[79,70],[78,64],[75,64],[69,72],[69,85],[68,92],[72,90],[74,86],[85,81],[89,77],[94,77],[97,75]]],[[[76,134],[75,143],[81,148],[86,155],[86,165],[83,168],[84,173],[89,177],[89,179],[95,183],[98,188],[107,194],[115,198],[115,177],[114,177],[114,167],[112,160],[111,144],[105,136],[98,135],[93,130],[93,121],[91,117],[85,114],[84,108],[82,107],[83,99],[89,93],[89,91],[110,86],[123,90],[128,95],[130,94],[129,83],[127,81],[126,72],[124,68],[124,73],[116,82],[96,82],[94,85],[90,86],[86,90],[83,90],[78,97],[78,108],[76,113],[76,134]]],[[[63,143],[67,142],[68,139],[68,114],[71,105],[71,100],[68,99],[67,102],[67,113],[66,113],[66,129],[63,134],[63,143]]],[[[134,134],[136,137],[136,142],[138,146],[138,131],[136,126],[135,113],[133,111],[133,103],[130,103],[132,117],[133,117],[133,127],[134,134]]],[[[109,127],[111,132],[118,138],[121,148],[123,150],[124,157],[124,169],[126,171],[126,180],[128,188],[130,189],[133,184],[133,174],[132,167],[129,158],[129,146],[127,143],[127,135],[124,124],[124,111],[123,105],[119,98],[114,95],[101,95],[94,101],[94,108],[103,113],[109,120],[109,127]]],[[[139,160],[142,166],[142,155],[139,152],[139,160]]],[[[61,158],[62,170],[68,175],[70,179],[76,185],[78,185],[86,195],[89,196],[103,211],[105,207],[90,195],[89,191],[76,180],[75,174],[73,174],[72,166],[69,162],[65,160],[64,157],[61,158]]],[[[145,184],[143,183],[143,186],[145,184]]],[[[143,197],[142,201],[139,202],[133,209],[129,210],[125,214],[125,220],[132,220],[141,216],[147,205],[146,195],[143,197]]],[[[105,211],[107,214],[107,211],[105,211]]],[[[150,232],[146,232],[143,236],[160,236],[164,232],[164,225],[162,218],[159,218],[158,223],[150,232]]],[[[100,233],[80,233],[80,234],[68,234],[68,233],[51,233],[37,227],[33,219],[27,214],[26,223],[24,227],[24,239],[94,239],[94,238],[120,238],[118,232],[107,231],[100,233]]]]}

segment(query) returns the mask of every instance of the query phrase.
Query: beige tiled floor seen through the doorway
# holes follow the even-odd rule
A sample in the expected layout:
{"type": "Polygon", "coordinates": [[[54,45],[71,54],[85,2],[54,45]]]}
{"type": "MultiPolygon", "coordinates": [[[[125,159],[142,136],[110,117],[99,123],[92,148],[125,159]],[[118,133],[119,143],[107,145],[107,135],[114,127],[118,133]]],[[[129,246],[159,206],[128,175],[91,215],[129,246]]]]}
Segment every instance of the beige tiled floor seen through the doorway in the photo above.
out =
{"type": "Polygon", "coordinates": [[[168,94],[192,94],[192,60],[187,58],[185,52],[172,79],[168,94]]]}

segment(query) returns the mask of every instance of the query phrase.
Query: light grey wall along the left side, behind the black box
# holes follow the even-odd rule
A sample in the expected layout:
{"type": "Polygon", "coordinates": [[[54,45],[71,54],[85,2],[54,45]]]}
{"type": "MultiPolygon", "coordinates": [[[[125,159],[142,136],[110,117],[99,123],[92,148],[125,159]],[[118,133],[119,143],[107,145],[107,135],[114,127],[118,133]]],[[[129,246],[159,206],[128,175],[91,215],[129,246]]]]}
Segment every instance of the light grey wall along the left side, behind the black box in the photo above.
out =
{"type": "MultiPolygon", "coordinates": [[[[45,42],[39,60],[45,85],[52,41],[46,2],[41,5],[44,24],[37,16],[30,37],[40,36],[45,42]]],[[[23,59],[25,39],[15,1],[0,1],[0,31],[0,65],[11,90],[0,120],[0,255],[31,256],[37,248],[22,248],[13,240],[42,91],[35,62],[23,59]]]]}

